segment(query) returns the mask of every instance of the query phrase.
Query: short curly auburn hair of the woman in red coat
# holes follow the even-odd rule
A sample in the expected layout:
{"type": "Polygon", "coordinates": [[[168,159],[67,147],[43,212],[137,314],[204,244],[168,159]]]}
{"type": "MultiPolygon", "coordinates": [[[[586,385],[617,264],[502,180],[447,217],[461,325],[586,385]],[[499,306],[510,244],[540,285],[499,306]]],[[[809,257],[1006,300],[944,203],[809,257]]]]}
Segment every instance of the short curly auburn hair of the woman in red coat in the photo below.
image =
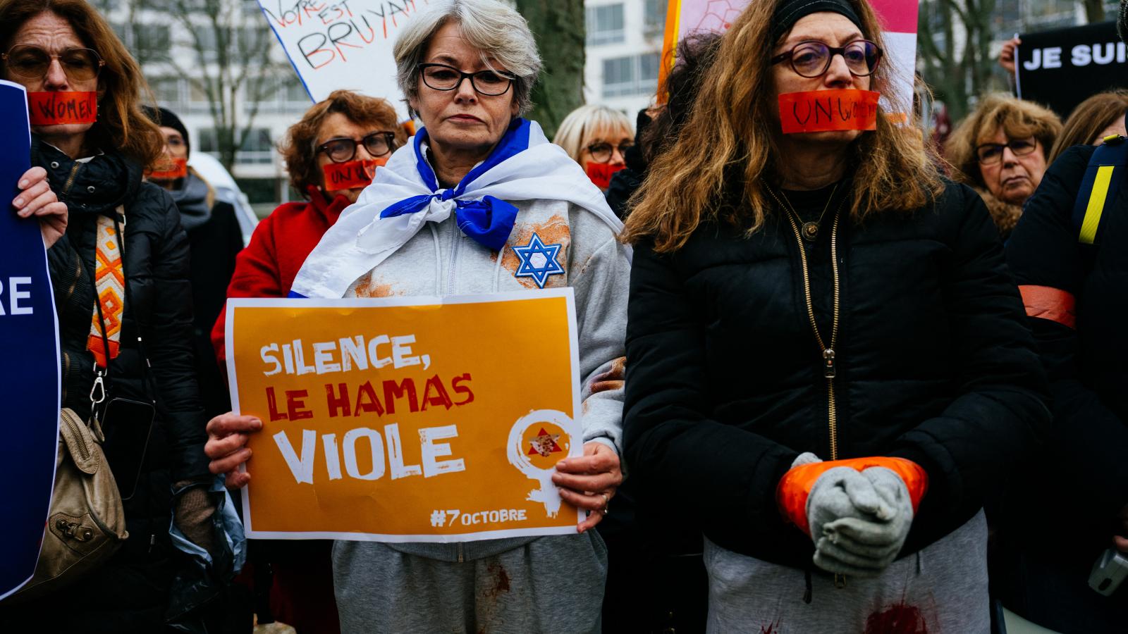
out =
{"type": "Polygon", "coordinates": [[[387,100],[365,97],[352,90],[329,93],[328,97],[314,104],[298,123],[287,130],[285,138],[279,146],[287,171],[290,173],[290,186],[302,196],[309,196],[306,190],[310,185],[317,187],[321,184],[321,170],[317,167],[317,134],[321,131],[325,118],[333,113],[345,115],[356,125],[376,125],[395,132],[396,148],[407,141],[407,131],[399,125],[396,109],[387,100]]]}

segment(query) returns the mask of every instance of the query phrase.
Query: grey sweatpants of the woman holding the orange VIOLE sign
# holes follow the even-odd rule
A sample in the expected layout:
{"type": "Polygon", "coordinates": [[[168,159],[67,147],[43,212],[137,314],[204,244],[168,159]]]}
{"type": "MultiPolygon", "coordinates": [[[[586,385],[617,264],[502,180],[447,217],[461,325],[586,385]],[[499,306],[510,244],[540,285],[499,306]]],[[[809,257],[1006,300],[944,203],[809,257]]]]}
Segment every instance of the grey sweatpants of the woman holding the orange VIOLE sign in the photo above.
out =
{"type": "Polygon", "coordinates": [[[599,634],[607,547],[594,530],[464,563],[337,541],[343,634],[599,634]]]}

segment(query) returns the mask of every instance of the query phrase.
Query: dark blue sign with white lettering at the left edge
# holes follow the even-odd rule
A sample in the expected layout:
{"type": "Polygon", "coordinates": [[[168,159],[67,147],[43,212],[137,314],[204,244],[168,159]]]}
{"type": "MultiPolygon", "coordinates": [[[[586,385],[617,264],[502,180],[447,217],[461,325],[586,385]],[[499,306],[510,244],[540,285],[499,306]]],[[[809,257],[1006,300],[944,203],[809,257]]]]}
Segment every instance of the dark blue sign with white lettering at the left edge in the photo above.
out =
{"type": "Polygon", "coordinates": [[[30,167],[24,87],[0,81],[0,599],[32,578],[55,479],[59,324],[39,223],[11,206],[30,167]]]}

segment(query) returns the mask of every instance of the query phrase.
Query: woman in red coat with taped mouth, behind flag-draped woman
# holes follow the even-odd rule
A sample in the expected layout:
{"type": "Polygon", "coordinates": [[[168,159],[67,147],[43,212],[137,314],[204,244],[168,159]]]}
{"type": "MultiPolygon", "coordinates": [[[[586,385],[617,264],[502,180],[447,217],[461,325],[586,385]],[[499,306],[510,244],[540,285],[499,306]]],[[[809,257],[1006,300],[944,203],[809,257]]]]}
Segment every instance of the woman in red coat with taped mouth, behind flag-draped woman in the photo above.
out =
{"type": "MultiPolygon", "coordinates": [[[[306,256],[371,182],[374,165],[406,140],[396,111],[384,99],[336,90],[309,108],[287,131],[281,150],[290,185],[308,200],[283,203],[258,223],[236,261],[227,297],[285,297],[306,256]],[[354,178],[347,178],[350,174],[354,178]]],[[[224,323],[226,311],[212,328],[221,366],[226,363],[224,323]]],[[[271,609],[298,634],[340,632],[332,545],[323,540],[271,543],[271,609]]]]}

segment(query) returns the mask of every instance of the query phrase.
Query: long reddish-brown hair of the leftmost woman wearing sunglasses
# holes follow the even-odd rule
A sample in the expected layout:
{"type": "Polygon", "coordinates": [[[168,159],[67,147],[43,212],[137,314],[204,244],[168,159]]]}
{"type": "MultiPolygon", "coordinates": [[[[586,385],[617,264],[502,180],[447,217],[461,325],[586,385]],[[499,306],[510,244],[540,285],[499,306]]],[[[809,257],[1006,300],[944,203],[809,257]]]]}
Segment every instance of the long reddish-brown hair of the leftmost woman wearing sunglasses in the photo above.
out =
{"type": "Polygon", "coordinates": [[[149,86],[125,45],[86,0],[0,0],[0,51],[8,51],[24,24],[44,12],[67,20],[79,39],[106,62],[98,74],[105,94],[98,103],[98,121],[90,129],[92,143],[118,150],[142,167],[153,165],[165,151],[165,139],[141,112],[141,93],[150,94],[149,86]]]}

